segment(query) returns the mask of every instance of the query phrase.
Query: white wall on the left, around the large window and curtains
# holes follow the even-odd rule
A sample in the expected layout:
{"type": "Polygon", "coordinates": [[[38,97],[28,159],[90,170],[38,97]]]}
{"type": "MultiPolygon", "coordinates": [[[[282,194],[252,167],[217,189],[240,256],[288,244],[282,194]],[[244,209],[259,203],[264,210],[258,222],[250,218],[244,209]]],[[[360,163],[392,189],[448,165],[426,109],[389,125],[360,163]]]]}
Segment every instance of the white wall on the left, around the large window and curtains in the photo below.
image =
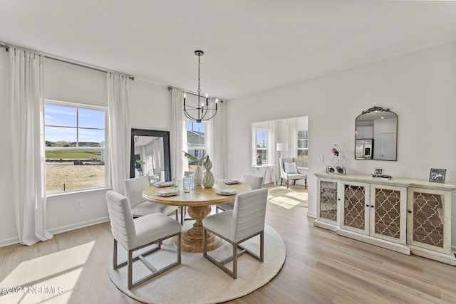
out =
{"type": "MultiPolygon", "coordinates": [[[[106,74],[46,59],[45,88],[47,99],[63,100],[88,105],[107,105],[106,74]]],[[[0,50],[0,140],[4,147],[10,141],[7,127],[9,117],[6,106],[9,103],[9,53],[0,50]]],[[[141,80],[130,82],[131,123],[133,128],[169,130],[170,92],[163,86],[141,80]]],[[[11,169],[9,149],[0,150],[0,246],[16,243],[17,232],[14,220],[14,206],[11,198],[11,169]]],[[[58,233],[108,221],[105,190],[67,193],[48,197],[46,228],[58,233]],[[82,208],[75,208],[76,201],[82,208]]]]}

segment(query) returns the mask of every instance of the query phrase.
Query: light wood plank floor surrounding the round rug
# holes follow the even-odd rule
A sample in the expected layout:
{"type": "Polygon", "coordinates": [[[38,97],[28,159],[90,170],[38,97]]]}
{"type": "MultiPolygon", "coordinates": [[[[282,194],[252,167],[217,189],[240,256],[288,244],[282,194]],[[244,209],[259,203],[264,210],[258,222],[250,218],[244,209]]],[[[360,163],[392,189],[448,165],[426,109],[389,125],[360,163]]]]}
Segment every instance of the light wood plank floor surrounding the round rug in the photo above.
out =
{"type": "MultiPolygon", "coordinates": [[[[286,243],[284,268],[263,288],[229,303],[456,303],[455,266],[315,228],[306,211],[268,204],[266,221],[286,243]]],[[[66,286],[64,295],[51,298],[55,303],[138,303],[108,278],[111,246],[105,223],[31,247],[0,248],[0,285],[66,286]],[[36,263],[33,273],[21,271],[24,263],[36,263]],[[49,265],[56,270],[46,272],[49,265]]]]}

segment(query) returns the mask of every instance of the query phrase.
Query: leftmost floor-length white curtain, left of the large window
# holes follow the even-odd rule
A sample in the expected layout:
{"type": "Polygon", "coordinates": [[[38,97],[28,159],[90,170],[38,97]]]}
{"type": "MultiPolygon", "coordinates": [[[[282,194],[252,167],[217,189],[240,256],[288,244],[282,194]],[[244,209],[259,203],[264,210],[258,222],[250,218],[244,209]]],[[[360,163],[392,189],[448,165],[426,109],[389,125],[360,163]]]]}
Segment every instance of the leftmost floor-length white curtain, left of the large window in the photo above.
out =
{"type": "Polygon", "coordinates": [[[43,56],[9,49],[10,132],[14,211],[19,241],[33,245],[52,238],[46,231],[43,56]]]}

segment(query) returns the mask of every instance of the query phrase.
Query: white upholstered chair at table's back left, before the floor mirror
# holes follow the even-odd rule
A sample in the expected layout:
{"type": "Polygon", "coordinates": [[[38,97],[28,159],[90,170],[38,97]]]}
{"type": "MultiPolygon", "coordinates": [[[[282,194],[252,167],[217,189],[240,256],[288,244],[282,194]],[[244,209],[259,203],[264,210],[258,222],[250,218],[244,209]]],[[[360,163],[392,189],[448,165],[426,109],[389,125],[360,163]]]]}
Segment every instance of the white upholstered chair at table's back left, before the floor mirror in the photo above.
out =
{"type": "Polygon", "coordinates": [[[160,212],[165,215],[170,215],[175,212],[176,220],[177,206],[167,206],[163,204],[152,203],[142,198],[142,190],[149,187],[149,178],[147,176],[135,177],[133,179],[125,179],[125,196],[130,202],[131,212],[133,217],[145,216],[160,212]]]}

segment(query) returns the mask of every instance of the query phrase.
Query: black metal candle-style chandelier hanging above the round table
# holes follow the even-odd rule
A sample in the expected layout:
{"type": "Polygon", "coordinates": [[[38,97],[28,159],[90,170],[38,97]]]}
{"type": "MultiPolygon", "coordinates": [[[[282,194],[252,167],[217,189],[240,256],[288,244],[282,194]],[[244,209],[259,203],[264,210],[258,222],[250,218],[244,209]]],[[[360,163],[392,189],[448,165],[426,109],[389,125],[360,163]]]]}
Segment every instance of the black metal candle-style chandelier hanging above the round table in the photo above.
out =
{"type": "MultiPolygon", "coordinates": [[[[203,51],[195,51],[195,55],[198,56],[198,103],[197,106],[186,105],[186,93],[184,94],[184,114],[189,120],[195,120],[201,122],[202,120],[210,120],[217,114],[218,99],[215,99],[215,108],[209,108],[209,96],[206,94],[206,105],[201,102],[201,89],[199,88],[199,65],[201,64],[201,56],[204,55],[203,51]],[[208,114],[209,113],[209,114],[208,114]]],[[[191,94],[191,93],[189,93],[191,94]]],[[[194,94],[196,95],[196,94],[194,94]]],[[[213,107],[213,105],[212,105],[213,107]]]]}

